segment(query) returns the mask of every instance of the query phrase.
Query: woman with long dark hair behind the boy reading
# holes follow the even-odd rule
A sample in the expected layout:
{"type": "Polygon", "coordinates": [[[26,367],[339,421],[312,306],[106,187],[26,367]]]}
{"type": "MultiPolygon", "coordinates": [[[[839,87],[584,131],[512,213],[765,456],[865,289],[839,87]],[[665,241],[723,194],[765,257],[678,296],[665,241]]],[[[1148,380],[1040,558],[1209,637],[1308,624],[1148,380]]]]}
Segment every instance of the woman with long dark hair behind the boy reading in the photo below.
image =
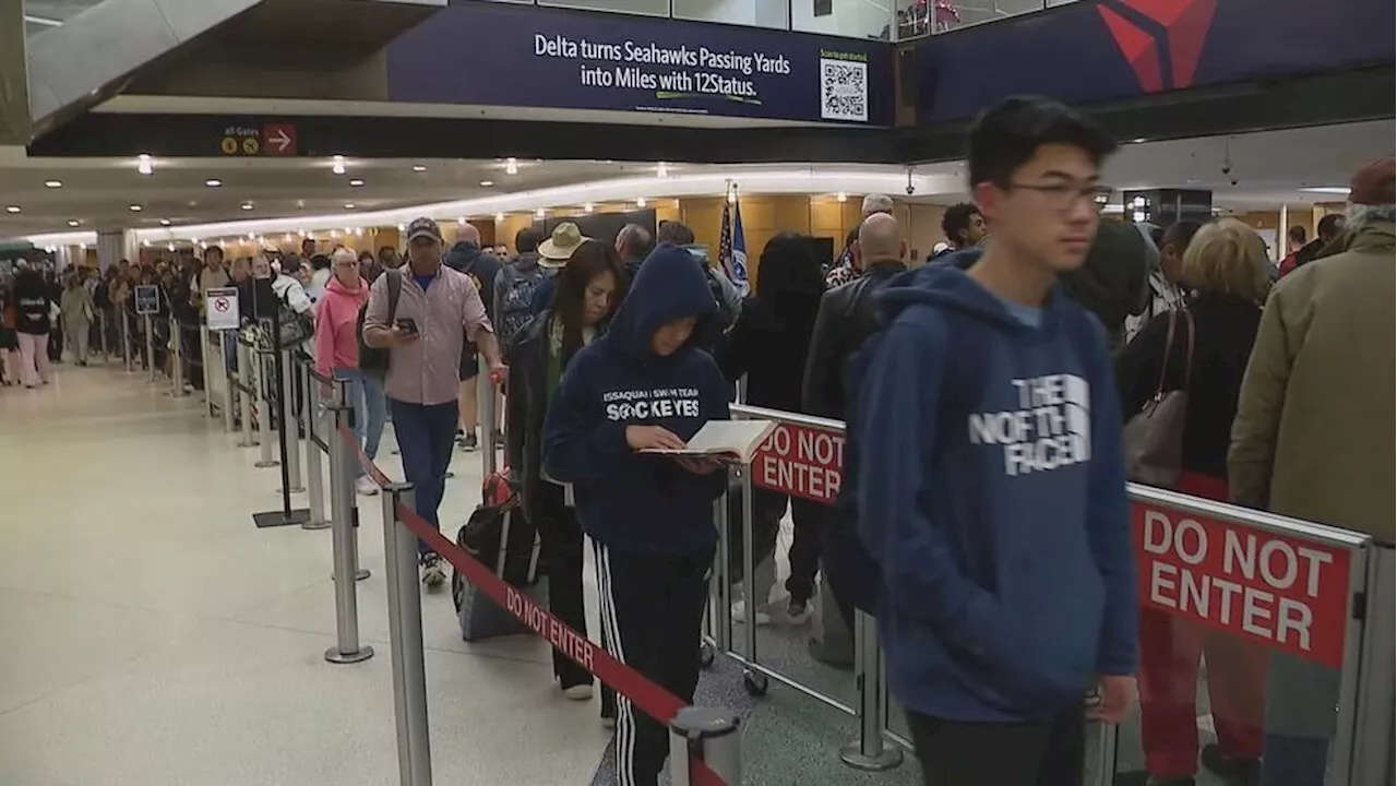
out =
{"type": "MultiPolygon", "coordinates": [[[[524,512],[542,540],[549,607],[583,635],[583,530],[564,488],[542,471],[543,418],[569,361],[601,336],[616,313],[624,277],[626,269],[610,246],[584,241],[557,273],[552,306],[518,331],[509,359],[506,459],[522,477],[524,512]]],[[[556,649],[553,674],[567,698],[592,696],[592,676],[556,649]]],[[[610,719],[615,699],[608,699],[604,688],[602,717],[610,719]]]]}

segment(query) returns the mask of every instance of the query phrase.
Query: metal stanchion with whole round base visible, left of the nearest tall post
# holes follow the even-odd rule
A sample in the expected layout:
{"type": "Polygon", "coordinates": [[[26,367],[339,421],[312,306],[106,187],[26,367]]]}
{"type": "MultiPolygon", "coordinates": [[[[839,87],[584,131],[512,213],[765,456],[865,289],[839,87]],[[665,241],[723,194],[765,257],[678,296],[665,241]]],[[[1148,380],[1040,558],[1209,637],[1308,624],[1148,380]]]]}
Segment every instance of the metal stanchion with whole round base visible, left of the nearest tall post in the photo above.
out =
{"type": "MultiPolygon", "coordinates": [[[[330,448],[330,520],[334,527],[337,642],[335,646],[326,650],[326,660],[330,663],[359,663],[373,657],[373,648],[359,643],[359,599],[355,596],[355,583],[339,580],[341,576],[353,575],[356,552],[359,551],[353,531],[355,459],[344,438],[339,436],[339,427],[353,428],[353,410],[337,406],[331,407],[330,413],[334,431],[327,435],[326,446],[330,448]]],[[[310,446],[310,453],[319,452],[319,448],[310,446]]],[[[316,516],[314,506],[312,506],[310,516],[312,519],[316,516]]],[[[416,579],[415,575],[414,579],[416,579]]]]}

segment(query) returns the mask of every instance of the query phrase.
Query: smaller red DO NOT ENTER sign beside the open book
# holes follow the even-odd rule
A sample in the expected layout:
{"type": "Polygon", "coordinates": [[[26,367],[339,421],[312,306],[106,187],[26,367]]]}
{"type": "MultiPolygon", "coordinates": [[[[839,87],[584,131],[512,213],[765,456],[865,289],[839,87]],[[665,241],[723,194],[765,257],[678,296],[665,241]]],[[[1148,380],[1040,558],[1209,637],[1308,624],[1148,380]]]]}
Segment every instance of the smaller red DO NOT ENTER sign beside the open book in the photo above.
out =
{"type": "Polygon", "coordinates": [[[752,483],[833,503],[844,480],[844,434],[780,424],[752,459],[752,483]]]}

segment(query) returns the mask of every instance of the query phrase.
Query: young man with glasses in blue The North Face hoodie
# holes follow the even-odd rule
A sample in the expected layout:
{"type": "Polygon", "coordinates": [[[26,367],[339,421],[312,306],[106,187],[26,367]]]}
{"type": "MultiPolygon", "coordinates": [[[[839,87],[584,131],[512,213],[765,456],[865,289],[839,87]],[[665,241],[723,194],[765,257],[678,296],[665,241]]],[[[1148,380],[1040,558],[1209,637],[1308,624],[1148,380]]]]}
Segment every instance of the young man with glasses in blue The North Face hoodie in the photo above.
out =
{"type": "Polygon", "coordinates": [[[851,418],[858,527],[928,785],[1077,786],[1084,715],[1119,722],[1134,696],[1106,333],[1058,285],[1097,234],[1113,150],[1045,98],[986,110],[970,134],[983,255],[883,291],[851,418]]]}

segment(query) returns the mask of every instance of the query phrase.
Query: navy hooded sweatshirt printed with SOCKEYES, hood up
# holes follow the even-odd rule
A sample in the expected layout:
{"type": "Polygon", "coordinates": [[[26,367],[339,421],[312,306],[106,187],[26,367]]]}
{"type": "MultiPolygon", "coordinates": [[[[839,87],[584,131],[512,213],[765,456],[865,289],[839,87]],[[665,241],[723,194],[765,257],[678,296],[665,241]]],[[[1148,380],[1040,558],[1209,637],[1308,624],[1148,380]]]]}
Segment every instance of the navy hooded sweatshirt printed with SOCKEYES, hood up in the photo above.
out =
{"type": "Polygon", "coordinates": [[[583,529],[608,547],[698,554],[717,541],[712,501],[726,473],[696,476],[673,459],[644,456],[626,427],[659,425],[689,441],[703,424],[728,420],[728,385],[694,344],[717,306],[687,250],[662,243],[641,266],[606,336],[583,348],[548,407],[543,471],[573,484],[583,529]],[[666,322],[698,317],[668,357],[650,348],[666,322]]]}

